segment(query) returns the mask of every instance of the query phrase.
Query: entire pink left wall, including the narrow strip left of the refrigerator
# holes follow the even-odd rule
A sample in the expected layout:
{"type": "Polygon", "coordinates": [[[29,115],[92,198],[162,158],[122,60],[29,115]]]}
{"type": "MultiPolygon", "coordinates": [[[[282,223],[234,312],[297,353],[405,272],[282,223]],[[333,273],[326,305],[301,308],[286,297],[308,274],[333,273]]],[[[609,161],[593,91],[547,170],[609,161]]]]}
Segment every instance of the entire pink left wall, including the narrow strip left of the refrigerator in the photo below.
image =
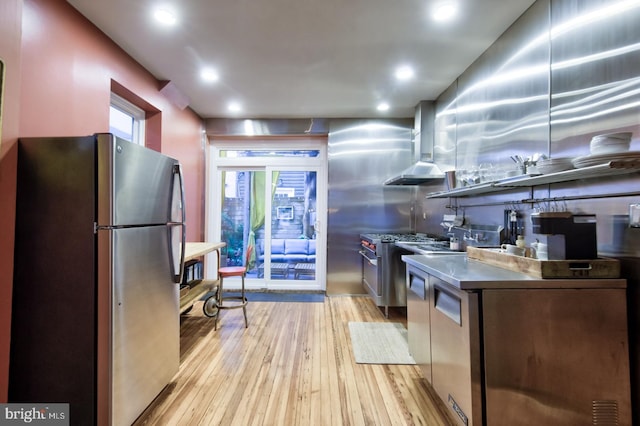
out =
{"type": "MultiPolygon", "coordinates": [[[[112,84],[152,109],[147,145],[178,159],[185,173],[187,239],[204,237],[203,121],[180,109],[161,84],[63,0],[3,0],[0,58],[8,65],[0,169],[0,402],[7,396],[8,340],[18,136],[106,132],[112,84]],[[22,40],[21,40],[22,32],[22,40]],[[20,43],[21,41],[21,43],[20,43]]],[[[34,236],[37,238],[37,236],[34,236]]]]}

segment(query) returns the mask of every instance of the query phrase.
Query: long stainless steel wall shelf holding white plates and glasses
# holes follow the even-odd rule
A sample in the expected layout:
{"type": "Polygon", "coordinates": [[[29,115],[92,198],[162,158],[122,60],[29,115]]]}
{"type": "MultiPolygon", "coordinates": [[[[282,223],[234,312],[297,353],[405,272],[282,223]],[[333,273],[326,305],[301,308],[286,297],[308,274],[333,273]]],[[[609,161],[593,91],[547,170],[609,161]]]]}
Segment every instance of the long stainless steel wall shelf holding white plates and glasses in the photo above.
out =
{"type": "Polygon", "coordinates": [[[616,160],[604,164],[598,164],[597,166],[565,170],[563,172],[549,173],[546,175],[515,176],[494,182],[485,182],[478,185],[466,186],[464,188],[456,188],[451,191],[432,192],[427,194],[426,198],[467,197],[470,195],[506,191],[510,188],[531,187],[580,179],[625,175],[637,173],[638,171],[640,171],[640,161],[635,159],[626,161],[616,160]]]}

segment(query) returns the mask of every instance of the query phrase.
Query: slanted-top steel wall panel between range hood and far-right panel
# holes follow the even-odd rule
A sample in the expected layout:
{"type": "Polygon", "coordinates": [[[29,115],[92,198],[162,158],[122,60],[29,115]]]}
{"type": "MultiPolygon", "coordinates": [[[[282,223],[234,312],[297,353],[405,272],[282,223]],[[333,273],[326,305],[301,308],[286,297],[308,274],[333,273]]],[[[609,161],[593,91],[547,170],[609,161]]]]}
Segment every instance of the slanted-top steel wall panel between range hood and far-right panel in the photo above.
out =
{"type": "Polygon", "coordinates": [[[458,169],[548,151],[549,2],[537,1],[459,77],[458,169]]]}

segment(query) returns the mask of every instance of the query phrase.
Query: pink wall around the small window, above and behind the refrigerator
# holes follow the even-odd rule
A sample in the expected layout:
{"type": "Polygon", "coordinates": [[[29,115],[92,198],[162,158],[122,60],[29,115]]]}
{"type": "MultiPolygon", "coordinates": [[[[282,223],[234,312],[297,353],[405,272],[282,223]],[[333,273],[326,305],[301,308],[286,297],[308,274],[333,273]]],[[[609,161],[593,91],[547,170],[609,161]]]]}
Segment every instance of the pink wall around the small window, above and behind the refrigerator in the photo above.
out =
{"type": "Polygon", "coordinates": [[[62,0],[25,0],[20,136],[86,135],[109,130],[112,80],[161,113],[154,149],[185,171],[187,238],[203,237],[203,120],[180,110],[160,82],[62,0]]]}

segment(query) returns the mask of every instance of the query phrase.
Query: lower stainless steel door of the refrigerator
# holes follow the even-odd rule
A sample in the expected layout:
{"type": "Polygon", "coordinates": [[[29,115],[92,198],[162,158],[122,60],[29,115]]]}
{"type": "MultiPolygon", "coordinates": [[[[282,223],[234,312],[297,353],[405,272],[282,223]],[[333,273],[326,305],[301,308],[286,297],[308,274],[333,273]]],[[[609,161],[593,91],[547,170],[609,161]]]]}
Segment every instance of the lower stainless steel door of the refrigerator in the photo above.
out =
{"type": "Polygon", "coordinates": [[[105,233],[113,241],[112,419],[131,424],[178,371],[178,286],[167,226],[105,233]]]}

